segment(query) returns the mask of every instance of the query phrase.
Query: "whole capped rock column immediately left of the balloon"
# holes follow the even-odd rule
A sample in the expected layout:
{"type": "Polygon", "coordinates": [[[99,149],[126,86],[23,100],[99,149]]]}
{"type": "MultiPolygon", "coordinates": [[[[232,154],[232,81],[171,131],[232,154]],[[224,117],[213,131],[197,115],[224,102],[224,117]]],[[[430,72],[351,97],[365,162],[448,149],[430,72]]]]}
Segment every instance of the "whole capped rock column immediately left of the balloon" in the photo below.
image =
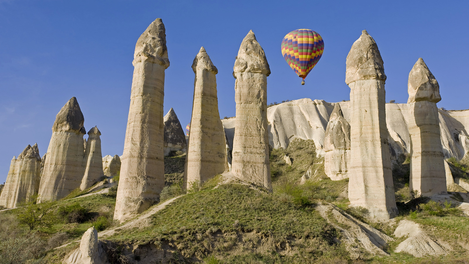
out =
{"type": "Polygon", "coordinates": [[[272,190],[267,132],[267,76],[269,64],[256,36],[242,40],[234,62],[234,129],[232,171],[244,181],[272,190]]]}

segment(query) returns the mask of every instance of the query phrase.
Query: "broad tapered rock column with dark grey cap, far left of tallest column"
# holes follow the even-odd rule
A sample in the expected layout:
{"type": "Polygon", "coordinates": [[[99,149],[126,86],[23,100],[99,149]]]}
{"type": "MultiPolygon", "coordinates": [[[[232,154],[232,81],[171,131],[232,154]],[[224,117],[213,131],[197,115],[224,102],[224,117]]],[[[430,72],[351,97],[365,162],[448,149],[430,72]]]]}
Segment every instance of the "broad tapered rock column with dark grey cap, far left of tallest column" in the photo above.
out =
{"type": "Polygon", "coordinates": [[[57,114],[52,127],[38,202],[61,199],[80,187],[84,173],[83,123],[78,101],[72,97],[57,114]]]}

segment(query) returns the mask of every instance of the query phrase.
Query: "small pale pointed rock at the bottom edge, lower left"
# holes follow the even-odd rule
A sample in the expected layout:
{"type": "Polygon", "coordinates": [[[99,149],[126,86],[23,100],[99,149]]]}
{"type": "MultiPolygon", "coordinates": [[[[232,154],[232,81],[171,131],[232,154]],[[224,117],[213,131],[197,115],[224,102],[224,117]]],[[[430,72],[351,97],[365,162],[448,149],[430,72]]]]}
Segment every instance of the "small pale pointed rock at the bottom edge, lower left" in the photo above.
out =
{"type": "Polygon", "coordinates": [[[80,247],[73,250],[64,259],[64,264],[104,264],[106,252],[98,243],[98,231],[90,227],[82,236],[80,247]]]}

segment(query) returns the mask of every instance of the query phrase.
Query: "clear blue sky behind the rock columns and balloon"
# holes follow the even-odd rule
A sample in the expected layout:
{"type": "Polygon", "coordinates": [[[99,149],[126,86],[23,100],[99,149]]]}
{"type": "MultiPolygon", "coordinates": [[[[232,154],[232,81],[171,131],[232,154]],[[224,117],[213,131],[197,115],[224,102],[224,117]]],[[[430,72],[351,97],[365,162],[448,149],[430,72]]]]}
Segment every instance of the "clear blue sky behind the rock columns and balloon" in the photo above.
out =
{"type": "MultiPolygon", "coordinates": [[[[345,60],[363,29],[383,57],[386,101],[407,102],[408,73],[423,57],[440,85],[439,107],[468,109],[468,1],[176,1],[0,0],[0,183],[28,144],[47,150],[55,115],[75,96],[88,131],[97,125],[102,153],[122,155],[133,54],[156,18],[166,27],[164,110],[190,122],[192,61],[204,46],[219,70],[220,117],[234,116],[234,58],[254,31],[272,74],[268,103],[300,98],[349,100],[345,60]],[[287,65],[280,42],[308,28],[324,54],[306,85],[287,65]]],[[[86,136],[87,137],[87,136],[86,136]]]]}

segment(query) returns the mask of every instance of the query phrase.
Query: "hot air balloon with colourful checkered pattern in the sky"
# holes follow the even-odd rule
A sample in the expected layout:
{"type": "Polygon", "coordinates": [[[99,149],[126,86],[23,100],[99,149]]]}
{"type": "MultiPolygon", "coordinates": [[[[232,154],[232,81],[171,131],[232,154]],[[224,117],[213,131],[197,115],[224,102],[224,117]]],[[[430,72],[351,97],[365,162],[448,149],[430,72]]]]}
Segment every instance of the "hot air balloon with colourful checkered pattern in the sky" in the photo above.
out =
{"type": "Polygon", "coordinates": [[[304,78],[318,63],[324,50],[324,40],[321,36],[310,29],[297,29],[291,31],[282,40],[282,55],[288,65],[304,78]]]}

